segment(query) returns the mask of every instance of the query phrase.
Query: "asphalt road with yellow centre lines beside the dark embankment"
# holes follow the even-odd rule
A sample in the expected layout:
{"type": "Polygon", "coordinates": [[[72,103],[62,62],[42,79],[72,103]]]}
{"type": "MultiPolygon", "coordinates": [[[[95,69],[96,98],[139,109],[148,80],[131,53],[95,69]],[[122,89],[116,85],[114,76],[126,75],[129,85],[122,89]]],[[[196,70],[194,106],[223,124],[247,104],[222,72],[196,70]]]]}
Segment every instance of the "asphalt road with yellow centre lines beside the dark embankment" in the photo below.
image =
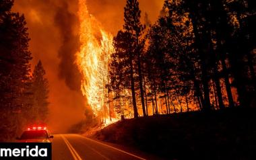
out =
{"type": "Polygon", "coordinates": [[[78,134],[55,134],[53,138],[53,160],[143,160],[158,159],[150,155],[138,155],[124,151],[120,147],[114,147],[100,141],[94,141],[90,138],[78,134]]]}

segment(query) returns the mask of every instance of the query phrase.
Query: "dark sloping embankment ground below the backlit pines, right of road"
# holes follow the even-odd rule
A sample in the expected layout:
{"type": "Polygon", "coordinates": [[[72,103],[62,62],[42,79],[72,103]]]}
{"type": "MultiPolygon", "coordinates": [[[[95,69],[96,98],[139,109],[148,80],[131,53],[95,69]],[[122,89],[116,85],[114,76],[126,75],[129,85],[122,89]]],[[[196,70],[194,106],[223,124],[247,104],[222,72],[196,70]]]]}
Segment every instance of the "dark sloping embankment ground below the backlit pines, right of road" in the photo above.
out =
{"type": "Polygon", "coordinates": [[[256,108],[124,120],[94,138],[166,159],[256,159],[256,108]]]}

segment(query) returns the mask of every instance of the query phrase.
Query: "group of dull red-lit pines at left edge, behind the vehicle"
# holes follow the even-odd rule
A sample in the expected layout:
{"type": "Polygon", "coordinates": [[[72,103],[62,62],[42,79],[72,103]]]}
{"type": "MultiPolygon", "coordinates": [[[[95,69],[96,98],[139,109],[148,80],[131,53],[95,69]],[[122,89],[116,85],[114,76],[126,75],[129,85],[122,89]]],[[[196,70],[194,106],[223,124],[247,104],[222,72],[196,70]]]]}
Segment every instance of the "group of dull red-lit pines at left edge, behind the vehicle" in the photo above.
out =
{"type": "Polygon", "coordinates": [[[41,61],[31,71],[30,38],[13,0],[0,3],[0,142],[11,141],[28,124],[44,124],[49,83],[41,61]]]}

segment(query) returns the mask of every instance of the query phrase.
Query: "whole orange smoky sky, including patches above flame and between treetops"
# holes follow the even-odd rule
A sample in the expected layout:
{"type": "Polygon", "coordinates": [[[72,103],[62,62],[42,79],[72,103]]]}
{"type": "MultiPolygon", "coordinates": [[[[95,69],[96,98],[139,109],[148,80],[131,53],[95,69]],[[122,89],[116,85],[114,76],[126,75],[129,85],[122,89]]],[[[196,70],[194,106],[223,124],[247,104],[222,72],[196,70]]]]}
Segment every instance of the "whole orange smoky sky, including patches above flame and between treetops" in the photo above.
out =
{"type": "MultiPolygon", "coordinates": [[[[87,3],[89,12],[98,19],[104,30],[115,36],[123,26],[123,8],[126,1],[88,0],[87,3]]],[[[151,22],[155,22],[164,0],[140,0],[139,3],[142,11],[141,19],[146,11],[151,22]]],[[[32,66],[34,67],[40,59],[49,79],[51,102],[49,126],[54,132],[65,132],[72,124],[86,118],[84,116],[86,100],[77,89],[81,79],[77,78],[79,77],[77,73],[74,73],[75,68],[70,67],[72,64],[75,65],[70,57],[75,54],[75,49],[79,49],[79,47],[74,48],[77,44],[72,42],[72,38],[77,35],[79,24],[75,18],[70,19],[77,14],[77,0],[16,0],[14,4],[13,11],[24,13],[28,23],[32,66]],[[62,19],[58,20],[58,18],[62,19]],[[70,38],[67,34],[73,36],[70,38]],[[61,48],[66,47],[63,46],[64,42],[65,45],[68,44],[67,49],[72,50],[70,55],[59,53],[61,48]],[[67,68],[63,69],[63,67],[67,68]]]]}

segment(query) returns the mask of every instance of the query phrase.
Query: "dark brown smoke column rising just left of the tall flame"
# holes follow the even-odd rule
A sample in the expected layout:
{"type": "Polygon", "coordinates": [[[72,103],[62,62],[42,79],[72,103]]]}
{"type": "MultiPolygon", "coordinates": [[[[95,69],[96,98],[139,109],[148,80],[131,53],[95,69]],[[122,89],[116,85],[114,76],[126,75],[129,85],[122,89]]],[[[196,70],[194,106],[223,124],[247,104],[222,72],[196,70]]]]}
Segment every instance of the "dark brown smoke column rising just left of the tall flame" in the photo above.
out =
{"type": "Polygon", "coordinates": [[[81,75],[75,65],[75,52],[79,50],[79,35],[75,28],[79,20],[74,13],[68,10],[67,2],[63,1],[55,15],[55,24],[61,35],[61,47],[59,48],[59,77],[65,80],[67,86],[75,91],[80,91],[81,75]]]}

